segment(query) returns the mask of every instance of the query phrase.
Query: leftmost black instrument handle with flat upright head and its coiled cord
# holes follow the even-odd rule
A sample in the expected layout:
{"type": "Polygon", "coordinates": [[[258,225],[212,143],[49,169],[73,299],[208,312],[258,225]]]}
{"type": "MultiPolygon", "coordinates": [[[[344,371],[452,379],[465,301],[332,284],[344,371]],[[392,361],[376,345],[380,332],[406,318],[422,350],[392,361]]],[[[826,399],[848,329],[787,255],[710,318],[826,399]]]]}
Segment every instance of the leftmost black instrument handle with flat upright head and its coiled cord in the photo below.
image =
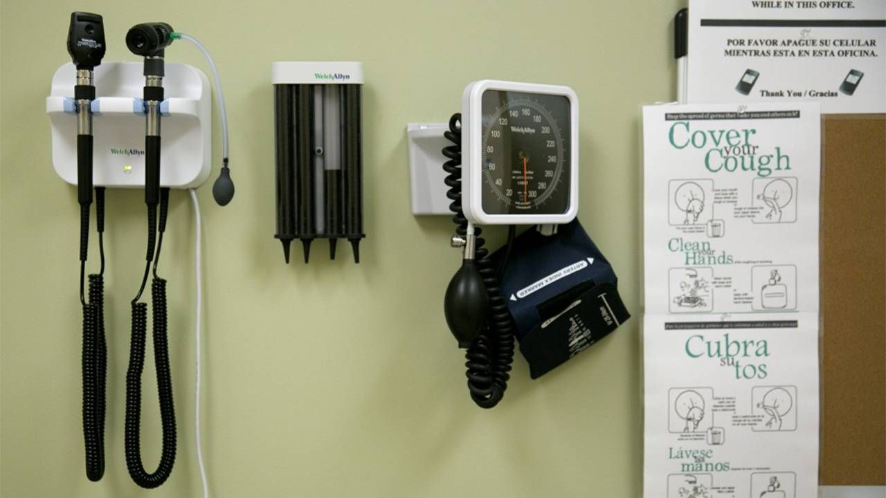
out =
{"type": "Polygon", "coordinates": [[[105,343],[104,275],[105,188],[96,188],[96,223],[101,268],[89,275],[89,300],[83,292],[89,252],[89,206],[92,205],[92,111],[96,98],[93,69],[105,56],[105,27],[102,16],[73,12],[67,31],[67,51],[77,69],[74,100],[77,113],[77,201],[80,203],[80,302],[83,310],[83,442],[86,477],[91,481],[105,475],[105,343]]]}

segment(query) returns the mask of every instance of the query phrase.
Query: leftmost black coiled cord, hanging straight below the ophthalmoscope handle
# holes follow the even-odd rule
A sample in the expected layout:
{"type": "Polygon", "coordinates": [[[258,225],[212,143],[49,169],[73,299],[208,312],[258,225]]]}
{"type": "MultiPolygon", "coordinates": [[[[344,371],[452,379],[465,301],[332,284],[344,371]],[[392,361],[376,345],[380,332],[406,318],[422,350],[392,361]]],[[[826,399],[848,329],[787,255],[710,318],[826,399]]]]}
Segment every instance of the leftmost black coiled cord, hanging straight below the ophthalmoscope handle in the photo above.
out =
{"type": "Polygon", "coordinates": [[[105,188],[96,189],[96,221],[101,269],[89,275],[89,300],[83,292],[89,246],[89,205],[81,205],[80,302],[83,312],[83,447],[86,453],[86,477],[91,481],[105,475],[105,381],[107,378],[107,343],[105,341],[105,188]]]}

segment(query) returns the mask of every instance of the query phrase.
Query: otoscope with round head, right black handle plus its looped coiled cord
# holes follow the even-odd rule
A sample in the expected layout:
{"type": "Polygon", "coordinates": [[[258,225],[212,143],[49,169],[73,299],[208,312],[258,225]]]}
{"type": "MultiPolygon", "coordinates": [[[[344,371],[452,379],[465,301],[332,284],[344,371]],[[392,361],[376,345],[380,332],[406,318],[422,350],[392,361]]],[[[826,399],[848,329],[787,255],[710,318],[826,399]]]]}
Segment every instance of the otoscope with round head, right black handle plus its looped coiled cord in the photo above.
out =
{"type": "Polygon", "coordinates": [[[148,249],[142,284],[132,300],[132,338],[129,349],[129,367],[126,374],[126,424],[125,449],[129,476],[138,486],[160,486],[169,477],[175,463],[175,408],[173,406],[172,381],[169,372],[167,344],[167,281],[157,275],[163,232],[166,230],[169,206],[169,189],[160,188],[160,103],[163,101],[164,50],[172,43],[172,27],[154,22],[131,27],[126,35],[126,45],[132,53],[144,57],[144,203],[148,209],[148,249]],[[160,206],[159,225],[157,206],[160,206]],[[159,241],[157,232],[159,231],[159,241]],[[157,242],[157,251],[154,245],[157,242]],[[160,405],[160,422],[163,445],[156,471],[148,473],[142,463],[140,424],[142,401],[142,370],[144,368],[144,341],[147,328],[147,305],[139,302],[144,285],[151,271],[154,363],[160,405]]]}

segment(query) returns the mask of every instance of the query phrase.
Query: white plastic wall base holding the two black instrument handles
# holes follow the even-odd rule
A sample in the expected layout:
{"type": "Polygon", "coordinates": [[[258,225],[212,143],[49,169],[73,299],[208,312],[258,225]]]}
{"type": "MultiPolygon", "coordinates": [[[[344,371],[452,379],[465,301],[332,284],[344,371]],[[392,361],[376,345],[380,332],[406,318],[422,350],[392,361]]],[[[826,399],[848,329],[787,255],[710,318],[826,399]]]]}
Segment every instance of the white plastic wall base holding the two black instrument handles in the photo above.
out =
{"type": "MultiPolygon", "coordinates": [[[[142,63],[105,62],[95,70],[92,102],[93,183],[104,187],[144,186],[142,63]]],[[[46,113],[52,121],[52,165],[67,183],[77,183],[77,118],[73,64],[52,77],[46,113]]],[[[196,67],[167,63],[166,100],[160,136],[160,185],[188,189],[206,181],[212,165],[212,94],[196,67]]]]}

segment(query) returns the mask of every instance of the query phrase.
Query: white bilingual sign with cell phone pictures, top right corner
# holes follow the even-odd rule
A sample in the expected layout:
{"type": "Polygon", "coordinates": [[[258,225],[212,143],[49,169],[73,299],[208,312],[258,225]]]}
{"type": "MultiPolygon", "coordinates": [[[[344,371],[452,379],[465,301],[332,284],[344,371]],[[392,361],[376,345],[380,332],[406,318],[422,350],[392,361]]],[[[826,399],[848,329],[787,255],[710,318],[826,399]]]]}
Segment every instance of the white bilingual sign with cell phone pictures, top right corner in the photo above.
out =
{"type": "Polygon", "coordinates": [[[886,112],[883,0],[690,0],[687,102],[886,112]]]}

